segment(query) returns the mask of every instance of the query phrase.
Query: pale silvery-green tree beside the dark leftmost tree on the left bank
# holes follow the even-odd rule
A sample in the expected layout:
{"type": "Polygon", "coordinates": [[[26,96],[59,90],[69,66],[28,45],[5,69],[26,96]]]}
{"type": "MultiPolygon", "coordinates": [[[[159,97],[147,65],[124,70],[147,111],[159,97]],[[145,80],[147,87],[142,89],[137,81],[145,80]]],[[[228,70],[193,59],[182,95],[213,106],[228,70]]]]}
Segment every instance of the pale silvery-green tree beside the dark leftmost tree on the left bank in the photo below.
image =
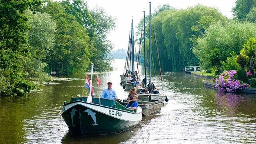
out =
{"type": "Polygon", "coordinates": [[[31,58],[26,62],[26,72],[28,78],[38,78],[41,82],[48,80],[49,77],[44,72],[47,66],[42,62],[54,48],[56,24],[47,13],[33,14],[30,10],[26,12],[29,17],[31,29],[28,30],[28,42],[31,46],[31,58]]]}

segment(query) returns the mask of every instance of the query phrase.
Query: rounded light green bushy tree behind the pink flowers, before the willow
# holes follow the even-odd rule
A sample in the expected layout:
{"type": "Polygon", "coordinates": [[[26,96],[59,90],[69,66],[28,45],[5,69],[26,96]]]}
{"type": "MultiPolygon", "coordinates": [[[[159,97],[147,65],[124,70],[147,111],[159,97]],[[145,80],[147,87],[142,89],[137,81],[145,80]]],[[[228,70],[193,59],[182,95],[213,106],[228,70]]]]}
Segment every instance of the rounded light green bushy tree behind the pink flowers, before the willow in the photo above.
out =
{"type": "Polygon", "coordinates": [[[205,36],[198,38],[198,45],[192,51],[203,69],[220,68],[220,61],[225,61],[232,52],[240,54],[244,43],[256,36],[255,30],[256,25],[249,22],[217,23],[206,29],[205,36]]]}

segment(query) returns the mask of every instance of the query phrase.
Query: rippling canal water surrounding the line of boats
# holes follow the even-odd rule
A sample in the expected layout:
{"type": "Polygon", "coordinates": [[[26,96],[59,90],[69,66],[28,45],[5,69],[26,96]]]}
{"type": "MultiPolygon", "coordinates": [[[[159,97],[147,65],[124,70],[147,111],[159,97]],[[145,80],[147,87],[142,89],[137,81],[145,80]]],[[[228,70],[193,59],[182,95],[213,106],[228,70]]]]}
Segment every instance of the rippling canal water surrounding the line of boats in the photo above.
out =
{"type": "MultiPolygon", "coordinates": [[[[118,98],[128,92],[120,86],[124,60],[113,62],[114,71],[95,72],[96,95],[113,83],[118,98]],[[96,86],[99,75],[101,84],[96,86]]],[[[96,67],[96,66],[95,66],[96,67]]],[[[139,66],[143,78],[144,68],[139,66]]],[[[159,72],[152,82],[161,88],[159,72]]],[[[88,75],[90,78],[90,74],[88,75]]],[[[256,96],[226,94],[202,86],[204,78],[184,72],[163,72],[164,108],[133,129],[116,134],[78,136],[70,134],[61,117],[63,101],[88,96],[86,74],[55,78],[25,97],[0,97],[0,143],[2,144],[240,144],[256,143],[256,96]],[[83,94],[84,91],[84,94],[83,94]]]]}

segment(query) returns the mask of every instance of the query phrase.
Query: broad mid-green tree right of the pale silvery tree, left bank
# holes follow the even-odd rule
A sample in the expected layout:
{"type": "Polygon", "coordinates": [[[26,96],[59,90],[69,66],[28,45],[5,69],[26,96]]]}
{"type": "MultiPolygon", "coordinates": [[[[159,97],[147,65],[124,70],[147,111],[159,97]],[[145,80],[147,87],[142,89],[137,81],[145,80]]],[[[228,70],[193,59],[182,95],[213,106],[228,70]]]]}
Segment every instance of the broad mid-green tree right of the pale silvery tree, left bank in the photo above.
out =
{"type": "Polygon", "coordinates": [[[84,72],[91,63],[92,38],[73,14],[67,14],[63,5],[48,1],[42,12],[52,16],[56,23],[56,44],[45,59],[49,68],[58,74],[84,72]]]}

